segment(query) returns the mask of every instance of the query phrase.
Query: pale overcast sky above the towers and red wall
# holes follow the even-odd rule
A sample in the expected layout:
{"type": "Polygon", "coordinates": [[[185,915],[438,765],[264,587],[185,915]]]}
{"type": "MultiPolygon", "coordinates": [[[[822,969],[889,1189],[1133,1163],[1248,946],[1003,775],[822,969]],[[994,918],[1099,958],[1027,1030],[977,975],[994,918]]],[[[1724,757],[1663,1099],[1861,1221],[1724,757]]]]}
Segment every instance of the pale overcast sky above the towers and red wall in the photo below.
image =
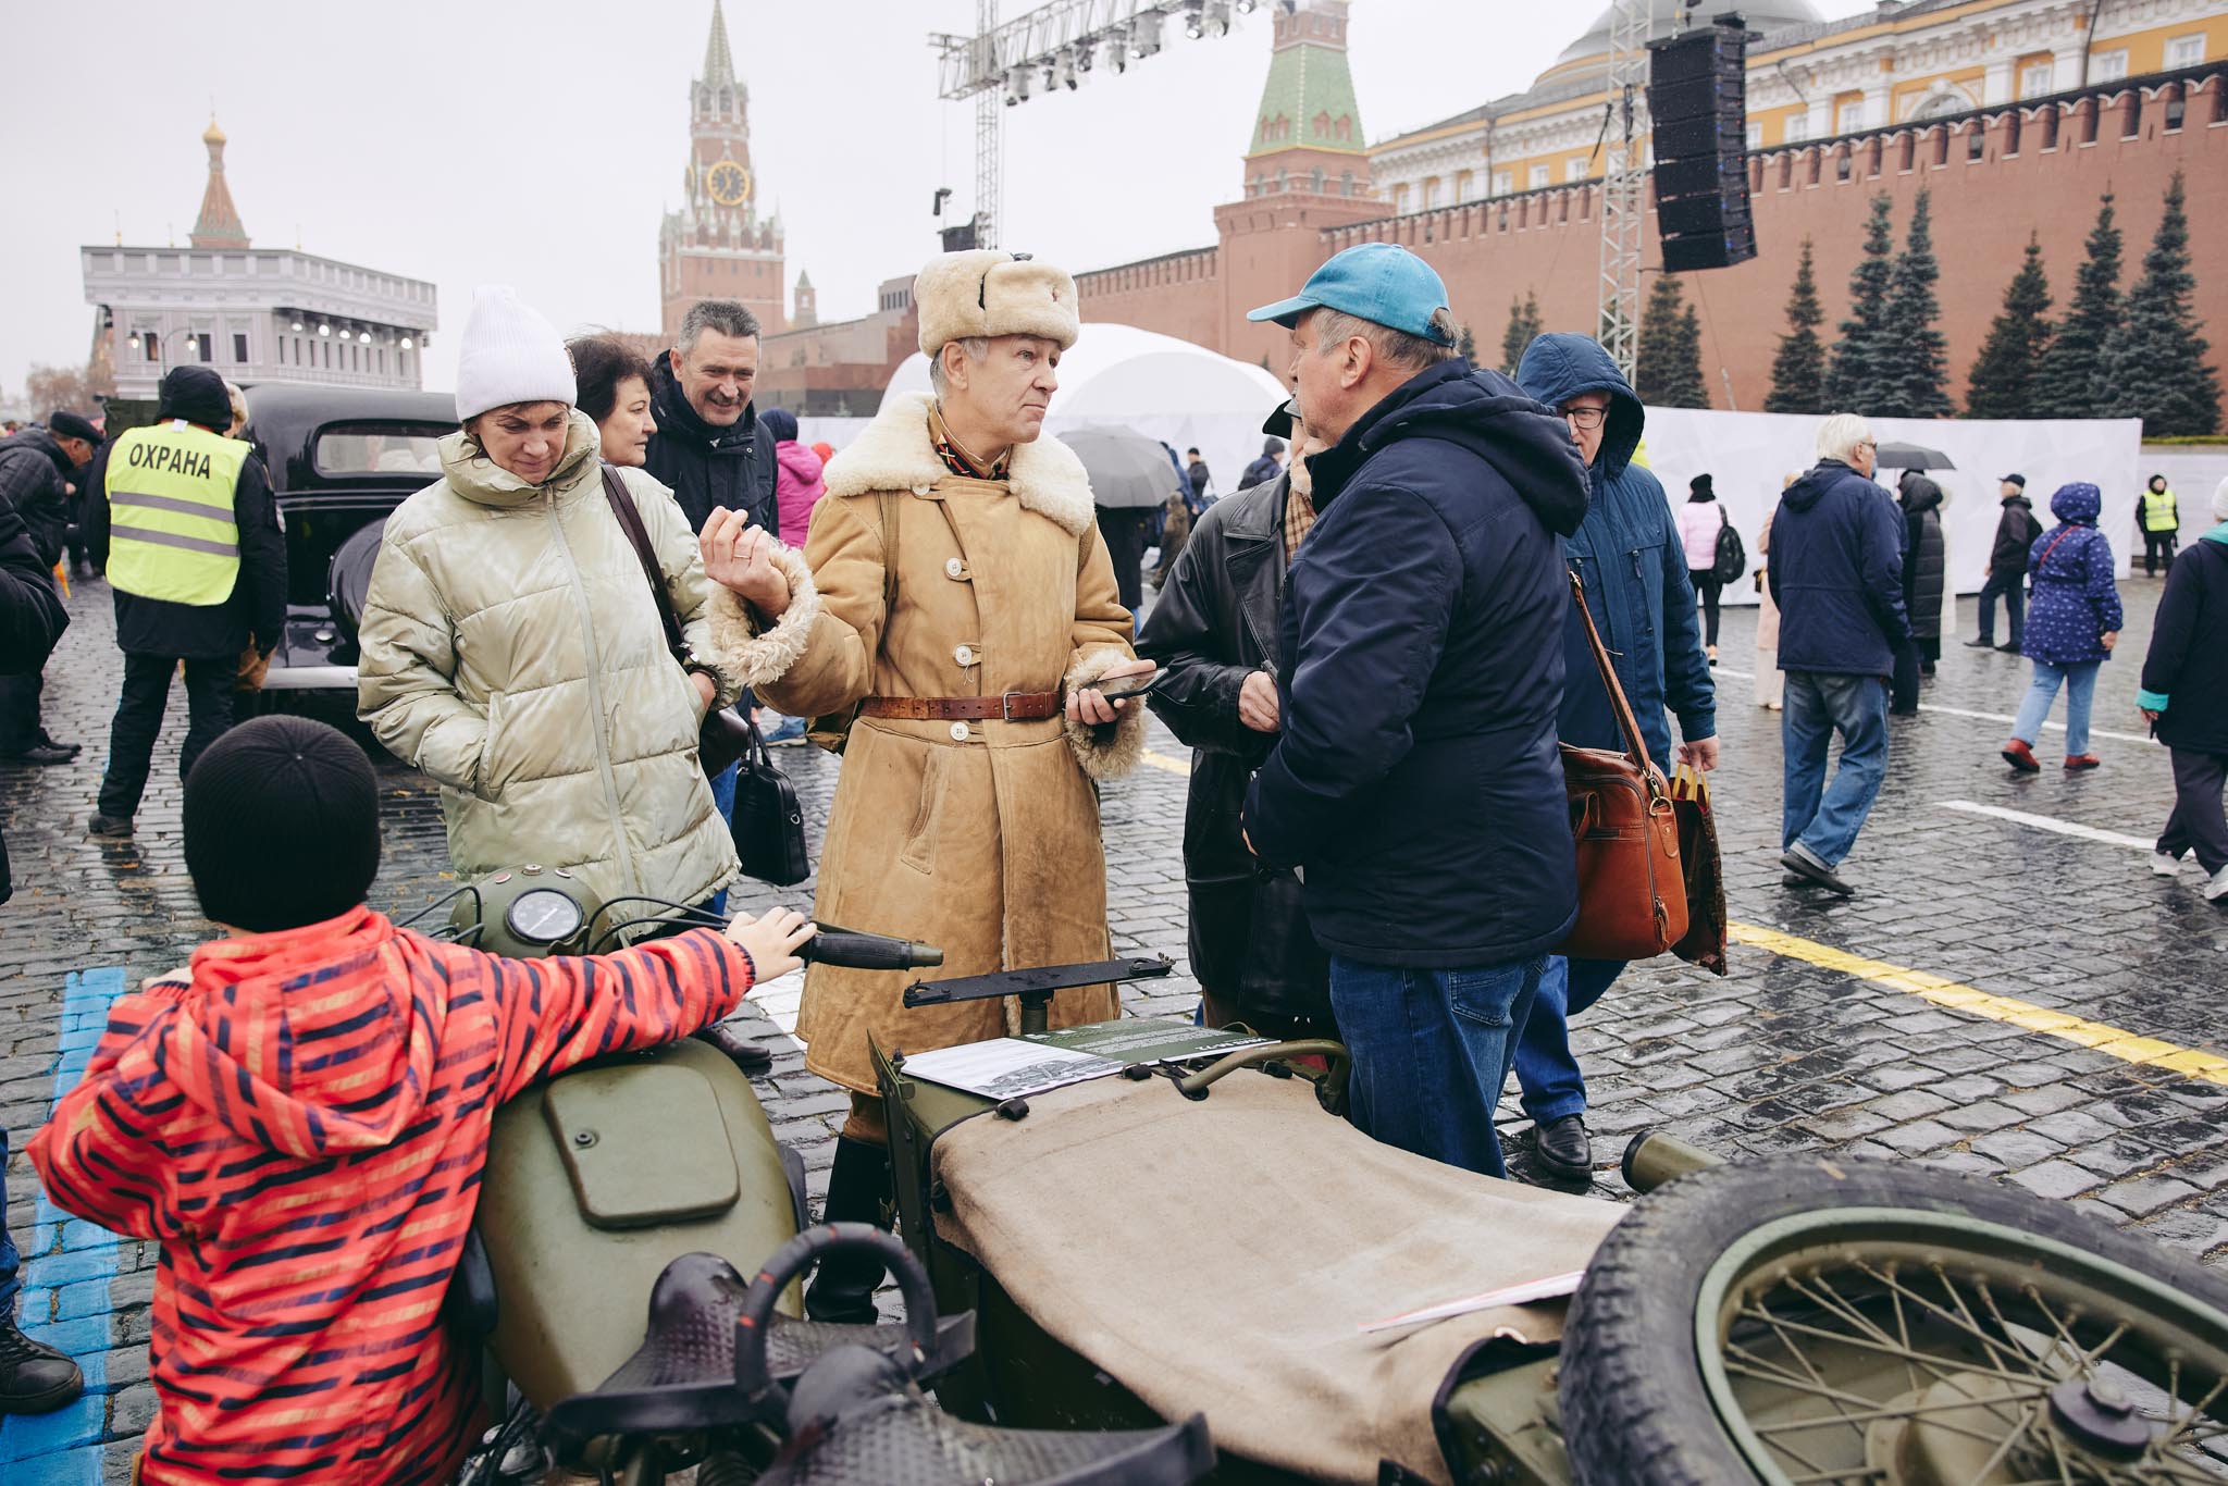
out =
{"type": "MultiPolygon", "coordinates": [[[[1027,0],[1005,0],[1007,18],[1027,0]]],[[[1000,245],[1081,272],[1214,241],[1268,69],[1270,4],[1221,40],[1005,109],[1000,245]]],[[[1522,89],[1597,7],[1355,0],[1352,69],[1379,140],[1522,89]]],[[[1869,0],[1820,0],[1847,16],[1869,0]]],[[[931,29],[971,0],[729,0],[751,165],[789,281],[822,319],[873,310],[936,252],[929,196],[971,209],[974,105],[936,98],[931,29]]],[[[455,374],[472,285],[512,283],[559,330],[657,327],[657,223],[680,196],[711,0],[123,0],[11,4],[0,89],[0,390],[82,361],[82,243],[185,245],[214,100],[258,247],[301,245],[441,292],[428,385],[455,374]],[[109,40],[89,38],[96,25],[109,40]]]]}

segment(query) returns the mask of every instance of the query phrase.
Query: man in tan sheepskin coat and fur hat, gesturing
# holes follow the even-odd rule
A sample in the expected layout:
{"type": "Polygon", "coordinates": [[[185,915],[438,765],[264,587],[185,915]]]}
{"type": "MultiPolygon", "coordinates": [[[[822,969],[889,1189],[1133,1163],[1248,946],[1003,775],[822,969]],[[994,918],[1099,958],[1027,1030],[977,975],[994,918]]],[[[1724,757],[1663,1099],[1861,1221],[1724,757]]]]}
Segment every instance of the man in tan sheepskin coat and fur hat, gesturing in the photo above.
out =
{"type": "MultiPolygon", "coordinates": [[[[934,397],[902,397],[827,468],[804,553],[740,515],[704,528],[733,579],[713,639],[784,713],[858,706],[820,864],[820,922],[927,940],[945,976],[1110,956],[1094,780],[1143,751],[1143,675],[1092,519],[1083,463],[1040,439],[1076,285],[1005,252],[945,254],[913,281],[934,397]],[[744,602],[746,599],[746,602],[744,602]]],[[[869,1038],[885,1049],[1003,1036],[1007,1005],[907,1011],[907,976],[813,965],[804,1067],[853,1092],[829,1219],[878,1221],[889,1147],[869,1038]]],[[[1112,987],[1063,991],[1052,1025],[1118,1014],[1112,987]]],[[[876,1259],[820,1265],[807,1310],[871,1321],[876,1259]]]]}

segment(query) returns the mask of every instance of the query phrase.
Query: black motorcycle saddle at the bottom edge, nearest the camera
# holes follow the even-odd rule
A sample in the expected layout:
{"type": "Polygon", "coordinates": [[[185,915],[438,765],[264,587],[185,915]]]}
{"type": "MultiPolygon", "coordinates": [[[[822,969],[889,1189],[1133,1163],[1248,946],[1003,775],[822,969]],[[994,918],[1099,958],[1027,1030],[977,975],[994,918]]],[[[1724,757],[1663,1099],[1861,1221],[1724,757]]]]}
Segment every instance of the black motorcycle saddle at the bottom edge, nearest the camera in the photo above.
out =
{"type": "Polygon", "coordinates": [[[889,1357],[833,1348],[795,1381],[760,1486],[1185,1486],[1214,1468],[1205,1415],[1156,1430],[1012,1430],[954,1419],[889,1357]]]}

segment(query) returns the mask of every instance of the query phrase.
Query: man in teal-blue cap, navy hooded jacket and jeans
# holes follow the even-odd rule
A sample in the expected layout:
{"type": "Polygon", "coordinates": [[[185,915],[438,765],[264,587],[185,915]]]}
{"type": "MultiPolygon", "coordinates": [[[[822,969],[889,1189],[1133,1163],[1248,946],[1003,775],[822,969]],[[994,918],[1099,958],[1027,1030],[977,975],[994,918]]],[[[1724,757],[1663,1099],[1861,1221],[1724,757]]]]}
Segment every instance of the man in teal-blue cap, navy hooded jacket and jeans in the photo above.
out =
{"type": "Polygon", "coordinates": [[[1292,332],[1330,446],[1248,840],[1306,878],[1355,1123],[1499,1176],[1515,1029],[1577,920],[1555,708],[1586,466],[1551,408],[1455,354],[1446,285],[1404,247],[1350,247],[1248,319],[1292,332]]]}

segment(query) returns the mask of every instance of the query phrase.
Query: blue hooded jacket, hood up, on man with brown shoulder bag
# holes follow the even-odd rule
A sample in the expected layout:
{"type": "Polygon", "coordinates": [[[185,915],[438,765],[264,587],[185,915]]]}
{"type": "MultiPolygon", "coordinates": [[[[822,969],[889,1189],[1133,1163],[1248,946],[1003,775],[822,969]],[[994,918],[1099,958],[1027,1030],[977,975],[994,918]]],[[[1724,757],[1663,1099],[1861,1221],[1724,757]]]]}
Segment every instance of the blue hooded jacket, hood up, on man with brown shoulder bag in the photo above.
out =
{"type": "MultiPolygon", "coordinates": [[[[1696,624],[1693,577],[1671,521],[1671,501],[1646,466],[1633,463],[1646,408],[1600,341],[1544,334],[1524,348],[1517,385],[1548,408],[1606,392],[1602,448],[1593,454],[1593,504],[1577,535],[1564,544],[1571,570],[1586,584],[1586,608],[1602,630],[1624,700],[1640,717],[1649,757],[1671,771],[1671,729],[1664,706],[1678,713],[1689,740],[1718,735],[1718,688],[1696,624]]],[[[1586,644],[1586,624],[1571,608],[1562,626],[1562,740],[1573,749],[1624,749],[1618,715],[1609,708],[1586,644]]]]}

